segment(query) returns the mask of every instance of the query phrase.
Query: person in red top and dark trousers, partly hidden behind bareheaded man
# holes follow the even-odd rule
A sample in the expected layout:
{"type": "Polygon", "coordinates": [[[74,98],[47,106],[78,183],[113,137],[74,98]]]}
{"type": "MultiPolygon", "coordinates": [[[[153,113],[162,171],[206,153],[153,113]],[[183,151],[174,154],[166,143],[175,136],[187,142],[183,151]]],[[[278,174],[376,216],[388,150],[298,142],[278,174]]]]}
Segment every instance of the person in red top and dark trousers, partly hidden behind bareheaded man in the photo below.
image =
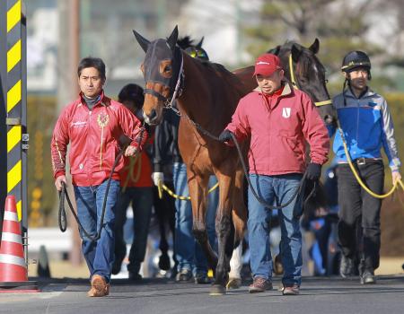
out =
{"type": "MultiPolygon", "coordinates": [[[[143,121],[143,103],[145,96],[143,88],[134,83],[125,85],[119,92],[118,100],[129,109],[140,121],[143,121]]],[[[125,158],[125,167],[120,170],[121,193],[116,209],[115,222],[115,261],[112,274],[118,274],[124,257],[127,255],[127,246],[124,240],[123,227],[127,221],[127,207],[132,205],[133,210],[133,240],[129,251],[129,264],[127,270],[130,280],[140,280],[140,266],[145,259],[147,235],[153,206],[153,181],[151,140],[140,154],[125,158]]],[[[129,140],[123,136],[120,139],[122,145],[127,145],[129,140]]]]}

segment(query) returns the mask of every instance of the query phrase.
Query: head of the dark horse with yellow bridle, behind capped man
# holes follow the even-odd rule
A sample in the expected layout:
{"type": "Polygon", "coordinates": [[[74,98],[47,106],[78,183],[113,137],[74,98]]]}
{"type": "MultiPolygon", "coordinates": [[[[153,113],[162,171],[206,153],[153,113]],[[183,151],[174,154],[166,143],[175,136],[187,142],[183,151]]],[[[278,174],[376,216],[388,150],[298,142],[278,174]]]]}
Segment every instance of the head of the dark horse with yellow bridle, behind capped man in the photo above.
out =
{"type": "Polygon", "coordinates": [[[268,52],[278,55],[285,67],[285,75],[294,88],[307,92],[327,125],[337,122],[337,114],[329,99],[325,68],[316,57],[320,42],[315,39],[310,48],[293,41],[268,52]]]}

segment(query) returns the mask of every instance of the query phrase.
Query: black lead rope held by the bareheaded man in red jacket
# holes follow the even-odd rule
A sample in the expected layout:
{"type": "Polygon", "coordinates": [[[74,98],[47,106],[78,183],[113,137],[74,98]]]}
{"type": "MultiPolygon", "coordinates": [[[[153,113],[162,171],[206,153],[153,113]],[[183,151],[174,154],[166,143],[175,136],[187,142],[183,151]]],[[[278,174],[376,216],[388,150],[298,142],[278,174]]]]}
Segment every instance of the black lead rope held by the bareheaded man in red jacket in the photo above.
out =
{"type": "MultiPolygon", "coordinates": [[[[142,141],[143,138],[143,133],[145,132],[145,128],[142,127],[142,130],[140,132],[140,136],[139,136],[139,142],[137,147],[140,148],[140,143],[142,141]]],[[[100,227],[98,232],[95,234],[95,237],[92,237],[92,235],[90,235],[84,228],[82,223],[80,222],[80,219],[78,218],[77,214],[75,214],[75,209],[73,208],[72,202],[70,200],[70,196],[67,193],[66,190],[66,183],[62,182],[62,190],[59,191],[59,213],[58,213],[58,224],[59,224],[59,228],[60,231],[65,232],[67,229],[67,220],[66,220],[66,209],[65,209],[65,198],[67,200],[67,204],[69,205],[70,208],[70,212],[73,214],[73,216],[75,217],[75,221],[77,222],[79,229],[81,231],[83,231],[84,235],[90,239],[92,242],[95,242],[96,240],[99,240],[101,238],[101,231],[102,228],[104,227],[104,216],[105,216],[105,209],[106,209],[106,205],[107,205],[107,197],[108,197],[108,192],[110,191],[110,180],[112,179],[112,175],[114,173],[115,167],[117,166],[120,157],[122,156],[122,154],[124,153],[123,150],[121,150],[119,152],[119,154],[117,155],[117,157],[115,158],[114,164],[112,166],[112,169],[110,171],[110,177],[108,178],[107,181],[107,188],[105,189],[105,195],[104,195],[104,201],[102,203],[102,212],[101,212],[101,222],[100,222],[100,227]]],[[[137,152],[139,153],[139,152],[137,152]]]]}

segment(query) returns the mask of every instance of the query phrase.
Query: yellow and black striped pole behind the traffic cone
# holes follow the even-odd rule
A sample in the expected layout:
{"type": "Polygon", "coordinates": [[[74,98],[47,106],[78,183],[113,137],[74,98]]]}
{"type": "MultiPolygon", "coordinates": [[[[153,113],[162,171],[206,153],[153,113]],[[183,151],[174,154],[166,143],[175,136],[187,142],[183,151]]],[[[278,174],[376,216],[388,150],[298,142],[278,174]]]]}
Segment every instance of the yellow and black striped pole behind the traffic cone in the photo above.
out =
{"type": "MultiPolygon", "coordinates": [[[[6,87],[5,124],[7,128],[7,188],[6,195],[15,196],[17,213],[22,222],[22,239],[26,253],[26,23],[22,0],[6,2],[6,87]]],[[[2,10],[2,14],[4,11],[2,10]]],[[[27,254],[25,254],[27,257],[27,254]]]]}

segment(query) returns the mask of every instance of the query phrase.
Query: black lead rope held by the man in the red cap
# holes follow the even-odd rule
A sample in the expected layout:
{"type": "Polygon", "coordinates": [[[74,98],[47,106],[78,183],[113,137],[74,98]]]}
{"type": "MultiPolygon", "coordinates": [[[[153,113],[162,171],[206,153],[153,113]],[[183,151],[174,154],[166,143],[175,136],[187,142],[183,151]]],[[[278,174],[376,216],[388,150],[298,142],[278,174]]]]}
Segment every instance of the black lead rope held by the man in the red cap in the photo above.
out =
{"type": "MultiPolygon", "coordinates": [[[[202,133],[203,135],[206,135],[216,141],[220,141],[219,137],[216,135],[213,135],[212,133],[210,133],[209,131],[207,131],[206,129],[204,129],[202,126],[200,126],[197,122],[193,121],[191,118],[189,118],[187,115],[185,115],[186,118],[188,118],[189,122],[195,126],[195,128],[197,128],[197,130],[202,133]]],[[[287,205],[290,205],[293,201],[294,198],[298,195],[300,195],[303,192],[304,189],[304,183],[305,183],[305,179],[306,179],[306,173],[303,174],[302,179],[299,182],[299,188],[296,189],[296,191],[294,192],[294,195],[283,205],[272,205],[269,204],[268,202],[266,202],[263,198],[259,197],[257,191],[252,187],[251,181],[250,181],[250,177],[249,177],[249,171],[247,170],[247,166],[244,162],[244,159],[242,157],[242,149],[240,148],[240,144],[237,142],[237,139],[235,138],[235,136],[233,135],[233,133],[231,133],[232,136],[232,140],[233,143],[237,149],[237,153],[239,153],[239,158],[240,161],[242,161],[242,170],[244,172],[244,177],[245,179],[247,179],[247,182],[249,184],[249,187],[251,189],[252,194],[254,195],[254,197],[259,201],[259,203],[261,205],[264,205],[266,207],[268,207],[269,210],[276,210],[276,209],[282,209],[284,207],[286,207],[287,205]]],[[[312,191],[310,192],[310,194],[306,197],[306,199],[303,201],[303,205],[306,205],[307,201],[314,196],[315,191],[316,191],[316,186],[317,186],[317,181],[313,182],[313,188],[312,191]]]]}

